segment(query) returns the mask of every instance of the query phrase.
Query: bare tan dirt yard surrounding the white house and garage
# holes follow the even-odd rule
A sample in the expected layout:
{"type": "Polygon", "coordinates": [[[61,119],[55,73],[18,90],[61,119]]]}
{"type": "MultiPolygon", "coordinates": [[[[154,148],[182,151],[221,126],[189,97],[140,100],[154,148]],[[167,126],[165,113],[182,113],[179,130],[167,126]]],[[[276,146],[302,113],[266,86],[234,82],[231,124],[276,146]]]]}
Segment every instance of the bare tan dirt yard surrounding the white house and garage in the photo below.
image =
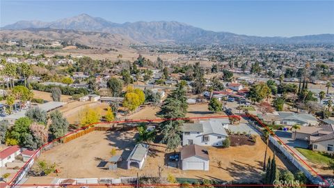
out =
{"type": "MultiPolygon", "coordinates": [[[[40,159],[55,162],[58,178],[105,178],[139,175],[157,175],[158,166],[163,167],[162,174],[172,173],[180,178],[207,178],[219,180],[256,181],[261,178],[262,162],[265,144],[257,139],[255,146],[237,146],[227,149],[208,147],[210,163],[209,171],[182,171],[174,167],[165,166],[166,148],[161,144],[152,144],[150,153],[145,159],[143,169],[135,167],[126,169],[126,162],[122,162],[116,171],[99,169],[97,165],[102,159],[111,157],[112,148],[126,160],[134,148],[135,132],[91,132],[69,143],[61,144],[43,152],[40,159]],[[247,155],[245,155],[247,153],[247,155]],[[218,168],[221,161],[221,169],[218,168]]],[[[272,152],[269,150],[269,155],[272,152]]],[[[278,167],[285,168],[278,159],[278,167]]]]}

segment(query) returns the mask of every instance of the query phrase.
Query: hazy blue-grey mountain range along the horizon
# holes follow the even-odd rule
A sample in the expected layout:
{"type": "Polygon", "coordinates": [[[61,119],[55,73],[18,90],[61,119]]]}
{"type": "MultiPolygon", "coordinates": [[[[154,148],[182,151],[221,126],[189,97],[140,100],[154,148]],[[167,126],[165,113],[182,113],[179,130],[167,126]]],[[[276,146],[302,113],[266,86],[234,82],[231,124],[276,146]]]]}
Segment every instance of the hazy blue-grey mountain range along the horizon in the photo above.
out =
{"type": "Polygon", "coordinates": [[[200,29],[180,22],[125,22],[117,24],[100,17],[87,14],[58,19],[54,22],[19,21],[1,28],[17,31],[38,29],[38,31],[52,31],[63,29],[71,31],[109,33],[127,38],[129,41],[182,44],[300,44],[300,43],[334,43],[334,34],[319,34],[312,36],[285,37],[259,37],[238,35],[229,32],[215,32],[200,29]]]}

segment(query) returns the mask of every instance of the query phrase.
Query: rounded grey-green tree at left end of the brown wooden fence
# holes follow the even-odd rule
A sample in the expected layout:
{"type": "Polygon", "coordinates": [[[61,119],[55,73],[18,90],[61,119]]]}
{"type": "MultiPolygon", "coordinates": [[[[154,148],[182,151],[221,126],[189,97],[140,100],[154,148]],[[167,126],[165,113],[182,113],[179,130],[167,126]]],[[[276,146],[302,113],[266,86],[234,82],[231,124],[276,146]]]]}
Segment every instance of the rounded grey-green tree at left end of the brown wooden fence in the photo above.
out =
{"type": "Polygon", "coordinates": [[[63,117],[63,113],[60,111],[52,111],[50,113],[51,124],[49,125],[49,132],[52,139],[64,136],[67,133],[68,122],[66,118],[63,117]]]}

